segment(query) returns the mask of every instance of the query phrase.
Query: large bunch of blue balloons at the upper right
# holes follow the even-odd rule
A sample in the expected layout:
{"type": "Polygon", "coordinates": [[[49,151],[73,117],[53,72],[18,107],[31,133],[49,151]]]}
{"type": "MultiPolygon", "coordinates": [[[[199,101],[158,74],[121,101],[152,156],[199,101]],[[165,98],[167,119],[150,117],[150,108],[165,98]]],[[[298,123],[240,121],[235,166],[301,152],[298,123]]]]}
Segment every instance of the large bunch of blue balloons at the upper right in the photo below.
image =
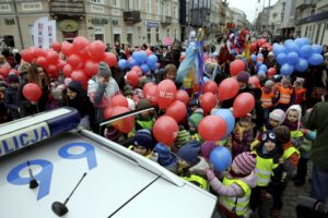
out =
{"type": "Polygon", "coordinates": [[[273,45],[273,53],[281,65],[282,75],[291,75],[294,71],[305,72],[308,65],[319,65],[324,62],[323,47],[311,44],[308,38],[297,38],[289,39],[283,45],[273,45]]]}

